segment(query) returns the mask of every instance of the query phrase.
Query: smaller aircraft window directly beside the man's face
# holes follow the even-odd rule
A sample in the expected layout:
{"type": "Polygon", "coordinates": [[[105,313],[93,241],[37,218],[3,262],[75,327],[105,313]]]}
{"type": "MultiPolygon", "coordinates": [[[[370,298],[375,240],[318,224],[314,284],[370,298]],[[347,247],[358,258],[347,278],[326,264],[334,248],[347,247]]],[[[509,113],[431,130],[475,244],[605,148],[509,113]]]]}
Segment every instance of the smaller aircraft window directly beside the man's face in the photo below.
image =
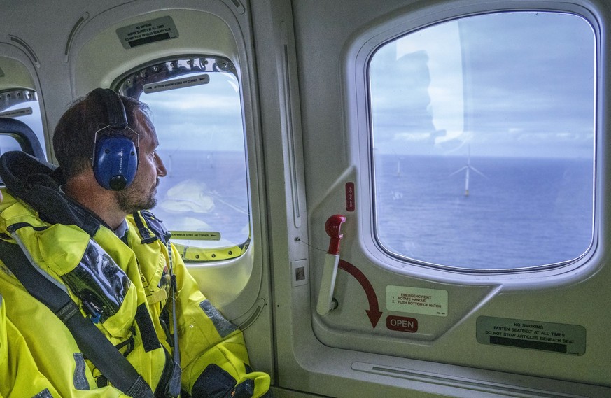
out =
{"type": "Polygon", "coordinates": [[[239,83],[228,59],[174,59],[122,78],[119,92],[150,106],[167,176],[155,215],[187,262],[226,260],[250,242],[239,83]],[[213,250],[211,250],[211,248],[213,250]]]}

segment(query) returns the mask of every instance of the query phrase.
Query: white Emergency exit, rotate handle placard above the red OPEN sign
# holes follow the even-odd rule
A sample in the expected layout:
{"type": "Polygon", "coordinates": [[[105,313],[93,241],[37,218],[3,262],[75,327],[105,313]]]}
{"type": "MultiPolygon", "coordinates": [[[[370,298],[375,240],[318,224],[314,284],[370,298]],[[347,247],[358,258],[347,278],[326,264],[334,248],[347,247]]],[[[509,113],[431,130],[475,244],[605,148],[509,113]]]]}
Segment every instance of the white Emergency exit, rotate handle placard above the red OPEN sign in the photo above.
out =
{"type": "Polygon", "coordinates": [[[447,316],[448,292],[421,287],[386,286],[386,309],[404,313],[447,316]]]}

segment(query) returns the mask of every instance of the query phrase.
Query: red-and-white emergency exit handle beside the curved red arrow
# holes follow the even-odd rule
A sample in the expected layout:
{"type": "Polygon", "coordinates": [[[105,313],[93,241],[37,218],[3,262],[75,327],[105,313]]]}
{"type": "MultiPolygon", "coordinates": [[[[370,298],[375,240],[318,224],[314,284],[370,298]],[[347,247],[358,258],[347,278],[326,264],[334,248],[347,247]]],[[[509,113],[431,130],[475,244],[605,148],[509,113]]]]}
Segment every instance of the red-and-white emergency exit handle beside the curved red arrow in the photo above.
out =
{"type": "Polygon", "coordinates": [[[329,250],[325,254],[321,289],[318,290],[318,304],[316,304],[316,312],[321,316],[327,315],[335,309],[333,290],[335,289],[335,276],[337,276],[337,264],[339,263],[339,241],[344,237],[343,234],[339,233],[339,229],[345,221],[346,217],[344,215],[336,214],[325,222],[325,232],[331,240],[329,250]]]}

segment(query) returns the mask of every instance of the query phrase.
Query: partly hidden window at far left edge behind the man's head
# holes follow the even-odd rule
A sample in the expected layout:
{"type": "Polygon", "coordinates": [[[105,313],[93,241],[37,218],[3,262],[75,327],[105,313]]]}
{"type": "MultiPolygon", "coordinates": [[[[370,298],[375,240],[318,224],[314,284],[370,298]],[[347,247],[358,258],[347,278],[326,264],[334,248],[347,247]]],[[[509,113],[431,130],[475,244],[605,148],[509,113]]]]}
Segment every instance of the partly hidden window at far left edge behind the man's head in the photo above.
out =
{"type": "MultiPolygon", "coordinates": [[[[42,148],[45,148],[41,107],[34,90],[10,89],[0,91],[0,118],[15,118],[24,122],[38,138],[42,148]]],[[[21,150],[15,139],[4,136],[0,141],[0,155],[9,150],[21,150]]]]}

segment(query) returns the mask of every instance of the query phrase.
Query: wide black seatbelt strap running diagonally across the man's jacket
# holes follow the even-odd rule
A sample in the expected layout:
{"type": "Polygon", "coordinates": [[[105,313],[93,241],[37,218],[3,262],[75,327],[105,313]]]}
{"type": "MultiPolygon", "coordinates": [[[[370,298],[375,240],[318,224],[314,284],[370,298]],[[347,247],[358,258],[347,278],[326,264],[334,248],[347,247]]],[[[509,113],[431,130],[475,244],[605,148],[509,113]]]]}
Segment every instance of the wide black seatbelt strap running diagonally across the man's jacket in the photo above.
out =
{"type": "Polygon", "coordinates": [[[64,322],[78,347],[116,388],[134,398],[153,398],[153,391],[136,369],[95,327],[80,315],[78,306],[59,286],[31,264],[21,248],[0,240],[0,257],[25,289],[64,322]]]}

